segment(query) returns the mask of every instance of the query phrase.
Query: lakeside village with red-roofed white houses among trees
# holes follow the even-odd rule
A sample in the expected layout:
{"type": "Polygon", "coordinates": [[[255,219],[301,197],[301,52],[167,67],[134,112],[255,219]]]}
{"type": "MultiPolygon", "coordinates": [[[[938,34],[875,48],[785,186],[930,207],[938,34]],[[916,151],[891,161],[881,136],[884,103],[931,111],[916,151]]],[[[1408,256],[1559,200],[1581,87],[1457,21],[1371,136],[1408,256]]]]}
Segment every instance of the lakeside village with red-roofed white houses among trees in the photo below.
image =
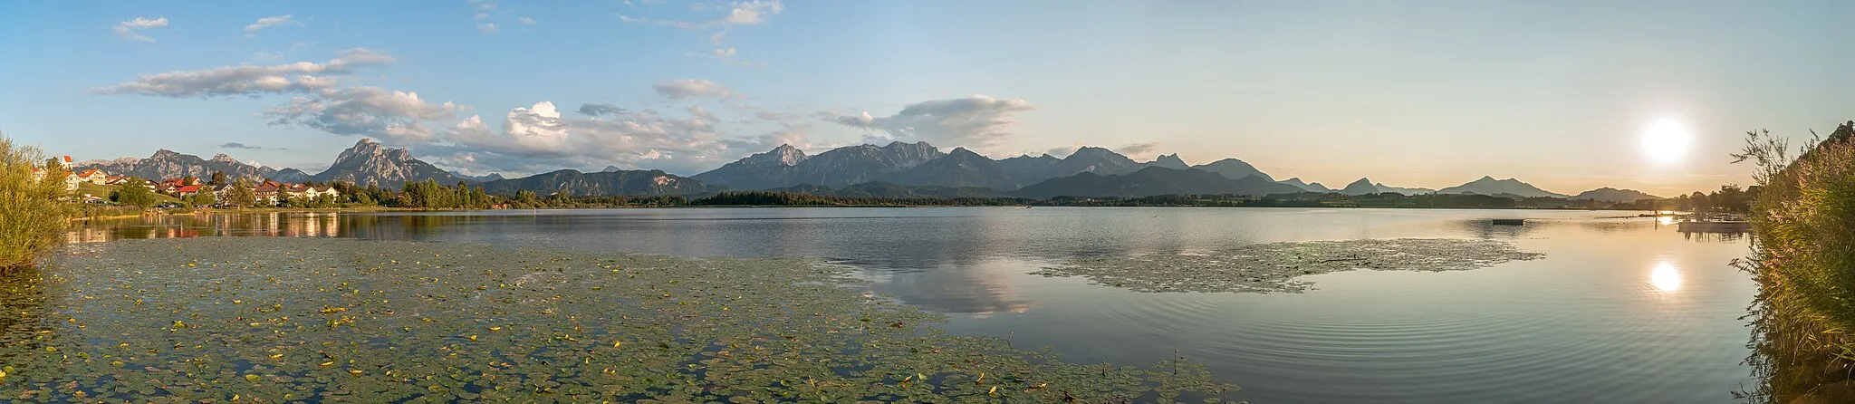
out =
{"type": "MultiPolygon", "coordinates": [[[[217,180],[200,180],[198,176],[186,178],[132,178],[132,176],[111,176],[100,169],[72,170],[70,156],[61,156],[52,159],[65,170],[65,191],[74,193],[76,198],[89,204],[109,204],[109,193],[128,185],[141,185],[152,193],[167,195],[182,202],[195,202],[195,206],[236,206],[230,204],[226,193],[234,191],[234,183],[224,176],[217,180]],[[210,195],[210,204],[200,198],[200,195],[210,195]]],[[[33,178],[43,180],[45,169],[33,169],[33,178]]],[[[280,183],[280,182],[262,182],[252,183],[254,206],[280,206],[289,200],[336,200],[341,198],[341,191],[332,185],[310,185],[310,183],[280,183]]],[[[180,202],[165,202],[173,206],[182,206],[180,202]]]]}

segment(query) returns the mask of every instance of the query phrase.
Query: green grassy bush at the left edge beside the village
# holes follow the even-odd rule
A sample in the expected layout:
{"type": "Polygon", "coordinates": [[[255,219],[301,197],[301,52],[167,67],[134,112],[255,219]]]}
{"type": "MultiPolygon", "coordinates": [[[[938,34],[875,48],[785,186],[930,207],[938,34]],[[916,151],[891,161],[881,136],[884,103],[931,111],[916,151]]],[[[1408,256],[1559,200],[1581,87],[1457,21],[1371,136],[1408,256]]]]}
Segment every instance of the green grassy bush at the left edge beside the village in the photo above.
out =
{"type": "Polygon", "coordinates": [[[61,198],[65,172],[50,165],[39,148],[15,145],[0,133],[0,271],[28,267],[58,243],[54,235],[70,226],[74,208],[61,198]],[[43,180],[33,169],[45,169],[43,180]]]}

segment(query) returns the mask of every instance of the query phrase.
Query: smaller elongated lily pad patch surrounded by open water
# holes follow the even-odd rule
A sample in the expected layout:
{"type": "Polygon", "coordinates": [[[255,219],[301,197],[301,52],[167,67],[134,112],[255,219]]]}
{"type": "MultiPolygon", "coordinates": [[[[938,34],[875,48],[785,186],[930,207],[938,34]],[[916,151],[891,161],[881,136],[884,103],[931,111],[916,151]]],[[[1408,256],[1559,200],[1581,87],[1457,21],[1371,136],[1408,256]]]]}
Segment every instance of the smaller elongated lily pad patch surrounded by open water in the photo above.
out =
{"type": "Polygon", "coordinates": [[[1465,271],[1536,259],[1514,245],[1486,239],[1347,239],[1247,245],[1211,254],[1089,256],[1031,274],[1083,276],[1133,291],[1306,291],[1302,274],[1354,269],[1465,271]]]}

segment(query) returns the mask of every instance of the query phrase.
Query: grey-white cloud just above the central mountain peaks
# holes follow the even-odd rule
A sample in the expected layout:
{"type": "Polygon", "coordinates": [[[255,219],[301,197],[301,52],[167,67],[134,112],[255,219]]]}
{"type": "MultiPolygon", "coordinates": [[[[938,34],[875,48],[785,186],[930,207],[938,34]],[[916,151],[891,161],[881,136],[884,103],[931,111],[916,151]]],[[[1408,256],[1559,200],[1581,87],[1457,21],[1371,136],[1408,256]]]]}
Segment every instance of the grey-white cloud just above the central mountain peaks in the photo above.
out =
{"type": "Polygon", "coordinates": [[[965,146],[992,150],[1017,122],[1015,115],[1037,109],[1026,100],[974,95],[966,98],[928,100],[902,107],[896,115],[876,117],[820,113],[820,119],[863,130],[874,130],[870,139],[928,141],[937,146],[965,146]]]}

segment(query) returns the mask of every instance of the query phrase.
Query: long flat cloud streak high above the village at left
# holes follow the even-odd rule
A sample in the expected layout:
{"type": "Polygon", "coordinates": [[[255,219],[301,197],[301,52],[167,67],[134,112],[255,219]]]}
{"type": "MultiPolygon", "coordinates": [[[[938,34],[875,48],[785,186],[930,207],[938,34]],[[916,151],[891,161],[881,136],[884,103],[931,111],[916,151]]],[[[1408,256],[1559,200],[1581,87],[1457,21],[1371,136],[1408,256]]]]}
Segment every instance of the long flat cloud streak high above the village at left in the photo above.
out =
{"type": "Polygon", "coordinates": [[[126,83],[93,89],[98,95],[147,96],[258,96],[278,93],[315,93],[336,85],[336,78],[358,67],[393,63],[393,56],[351,48],[323,63],[297,61],[284,65],[237,65],[202,70],[173,70],[143,74],[126,83]],[[326,76],[313,76],[326,74],[326,76]]]}

